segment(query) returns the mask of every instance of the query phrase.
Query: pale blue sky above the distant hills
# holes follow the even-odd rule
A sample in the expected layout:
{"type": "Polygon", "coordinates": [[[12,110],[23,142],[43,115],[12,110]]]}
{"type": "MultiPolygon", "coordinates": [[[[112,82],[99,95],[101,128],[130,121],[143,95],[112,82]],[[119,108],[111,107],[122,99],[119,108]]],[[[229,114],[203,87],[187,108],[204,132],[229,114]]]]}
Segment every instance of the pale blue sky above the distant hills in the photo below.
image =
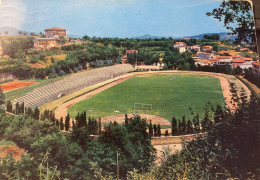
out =
{"type": "Polygon", "coordinates": [[[67,29],[90,37],[183,37],[228,32],[206,12],[217,0],[0,0],[0,28],[67,29]]]}

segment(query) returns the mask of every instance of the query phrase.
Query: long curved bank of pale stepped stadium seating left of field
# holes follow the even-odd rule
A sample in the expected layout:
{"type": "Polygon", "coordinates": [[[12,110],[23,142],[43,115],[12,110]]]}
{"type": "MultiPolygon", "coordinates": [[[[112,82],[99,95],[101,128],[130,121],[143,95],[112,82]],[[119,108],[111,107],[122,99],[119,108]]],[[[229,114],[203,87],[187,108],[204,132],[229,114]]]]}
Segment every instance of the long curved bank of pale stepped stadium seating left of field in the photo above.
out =
{"type": "Polygon", "coordinates": [[[131,71],[134,71],[134,68],[130,64],[120,64],[83,71],[36,88],[24,96],[14,99],[12,104],[15,105],[16,102],[24,102],[25,107],[34,108],[58,98],[61,93],[66,95],[131,71]]]}

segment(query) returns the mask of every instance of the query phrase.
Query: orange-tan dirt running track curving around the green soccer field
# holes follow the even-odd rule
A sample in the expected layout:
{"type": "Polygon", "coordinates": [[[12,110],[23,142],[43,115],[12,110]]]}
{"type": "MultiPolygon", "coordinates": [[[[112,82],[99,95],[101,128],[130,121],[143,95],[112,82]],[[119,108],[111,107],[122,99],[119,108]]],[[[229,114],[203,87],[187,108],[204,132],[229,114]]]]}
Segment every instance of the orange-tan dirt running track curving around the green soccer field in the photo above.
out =
{"type": "MultiPolygon", "coordinates": [[[[229,80],[227,79],[228,77],[225,75],[224,77],[219,75],[219,74],[213,74],[213,73],[207,73],[207,72],[191,72],[191,71],[165,71],[165,72],[148,72],[148,73],[136,73],[136,74],[130,74],[129,76],[126,76],[126,77],[123,77],[117,81],[114,81],[110,84],[107,84],[105,86],[102,86],[98,89],[95,89],[91,92],[88,92],[82,96],[79,96],[75,99],[72,99],[62,105],[60,105],[59,107],[57,107],[55,109],[55,117],[57,119],[60,119],[61,117],[65,118],[65,116],[67,115],[67,110],[69,107],[71,107],[73,104],[76,104],[84,99],[87,99],[93,95],[96,95],[112,86],[115,86],[129,78],[132,78],[132,77],[135,77],[135,76],[143,76],[143,75],[151,75],[151,74],[194,74],[194,75],[206,75],[206,76],[212,76],[212,77],[216,77],[220,80],[220,85],[221,85],[221,88],[222,88],[222,92],[223,92],[223,96],[225,98],[225,103],[227,105],[227,107],[229,109],[231,109],[232,112],[235,111],[235,106],[233,105],[233,102],[231,100],[232,98],[232,95],[230,93],[230,85],[229,85],[229,80]]],[[[159,116],[154,116],[154,115],[145,115],[147,119],[150,119],[152,120],[153,122],[165,122],[164,118],[162,117],[159,117],[159,116]]],[[[143,116],[142,116],[143,117],[143,116]]],[[[104,121],[108,121],[107,119],[110,118],[110,119],[118,119],[120,122],[122,121],[122,118],[124,118],[124,114],[121,114],[121,115],[112,115],[112,116],[107,116],[107,117],[104,117],[104,119],[102,118],[102,122],[103,120],[104,121]]],[[[165,124],[166,125],[166,124],[165,124]]]]}

